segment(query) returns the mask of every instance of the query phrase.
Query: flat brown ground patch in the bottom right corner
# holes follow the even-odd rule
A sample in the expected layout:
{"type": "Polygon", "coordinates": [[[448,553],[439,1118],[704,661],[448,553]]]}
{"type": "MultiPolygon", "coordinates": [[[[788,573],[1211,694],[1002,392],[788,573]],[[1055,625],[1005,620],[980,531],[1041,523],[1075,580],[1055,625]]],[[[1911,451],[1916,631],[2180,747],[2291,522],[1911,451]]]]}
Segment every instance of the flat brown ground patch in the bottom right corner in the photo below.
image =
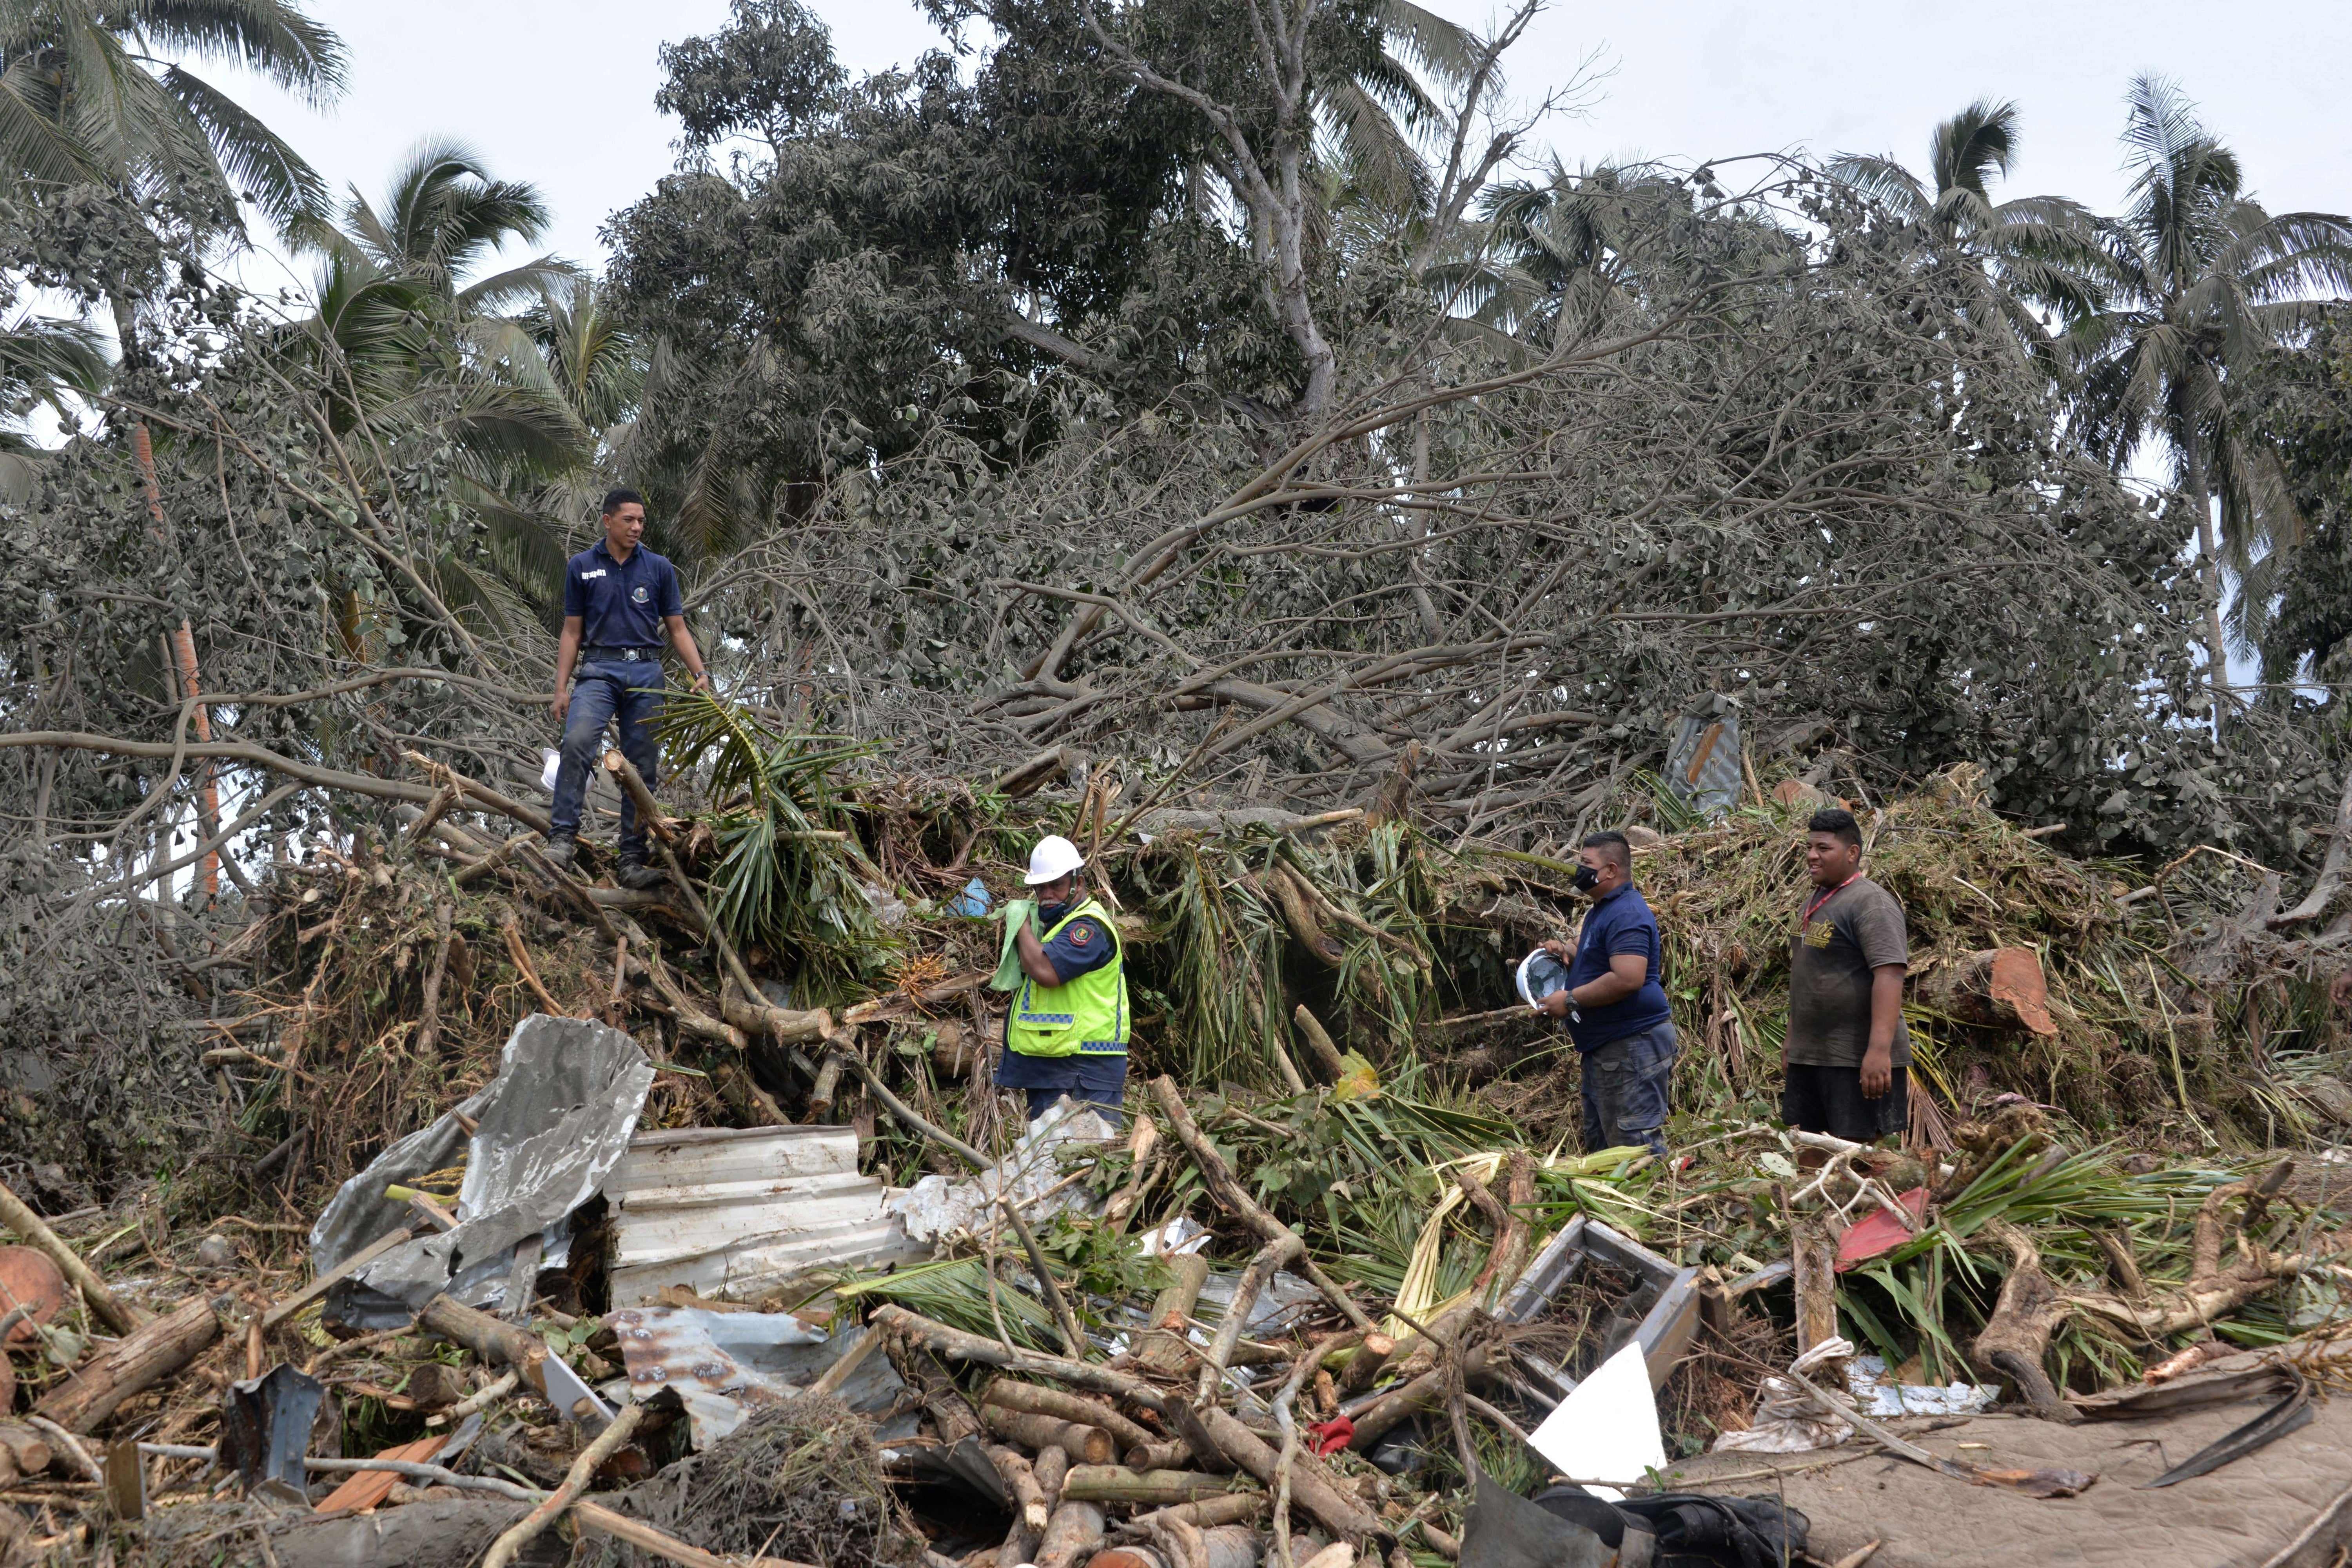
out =
{"type": "Polygon", "coordinates": [[[2027,1415],[1978,1415],[1938,1432],[1922,1432],[1924,1420],[1896,1427],[1952,1460],[2096,1474],[2077,1497],[1969,1486],[1865,1439],[1811,1455],[1703,1455],[1677,1465],[1675,1483],[1736,1495],[1785,1490],[1813,1521],[1806,1549],[1830,1563],[1879,1540],[1870,1568],[2333,1568],[2352,1544],[2352,1399],[2319,1403],[2307,1427],[2213,1474],[2140,1490],[2265,1403],[2077,1427],[2027,1415]],[[1766,1469],[1780,1479],[1759,1474],[1766,1469]]]}

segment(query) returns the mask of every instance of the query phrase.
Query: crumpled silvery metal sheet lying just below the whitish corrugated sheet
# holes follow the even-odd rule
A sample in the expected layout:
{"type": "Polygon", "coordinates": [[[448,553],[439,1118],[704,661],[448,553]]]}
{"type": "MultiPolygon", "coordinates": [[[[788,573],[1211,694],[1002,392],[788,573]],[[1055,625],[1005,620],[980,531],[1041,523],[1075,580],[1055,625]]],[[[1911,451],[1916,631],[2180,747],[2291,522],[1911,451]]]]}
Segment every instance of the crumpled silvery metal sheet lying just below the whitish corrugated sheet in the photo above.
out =
{"type": "MultiPolygon", "coordinates": [[[[753,1410],[800,1394],[870,1333],[828,1335],[790,1312],[699,1307],[623,1307],[607,1314],[604,1326],[621,1340],[630,1394],[637,1403],[661,1389],[677,1394],[696,1450],[741,1427],[753,1410]]],[[[873,1415],[896,1406],[903,1389],[889,1356],[868,1354],[842,1380],[840,1399],[873,1415]]],[[[917,1418],[901,1420],[906,1432],[884,1422],[882,1436],[910,1436],[917,1418]]]]}

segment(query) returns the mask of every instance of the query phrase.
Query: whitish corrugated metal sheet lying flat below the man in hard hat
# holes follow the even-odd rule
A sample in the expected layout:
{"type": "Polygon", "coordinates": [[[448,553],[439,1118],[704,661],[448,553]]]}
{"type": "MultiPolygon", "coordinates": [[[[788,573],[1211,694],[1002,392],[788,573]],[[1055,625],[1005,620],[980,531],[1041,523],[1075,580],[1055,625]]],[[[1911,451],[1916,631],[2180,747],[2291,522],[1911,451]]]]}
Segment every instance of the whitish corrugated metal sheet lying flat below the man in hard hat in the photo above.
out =
{"type": "Polygon", "coordinates": [[[640,1307],[663,1286],[750,1300],[818,1267],[929,1258],[882,1213],[884,1194],[858,1175],[847,1126],[644,1133],[604,1180],[612,1302],[640,1307]]]}

